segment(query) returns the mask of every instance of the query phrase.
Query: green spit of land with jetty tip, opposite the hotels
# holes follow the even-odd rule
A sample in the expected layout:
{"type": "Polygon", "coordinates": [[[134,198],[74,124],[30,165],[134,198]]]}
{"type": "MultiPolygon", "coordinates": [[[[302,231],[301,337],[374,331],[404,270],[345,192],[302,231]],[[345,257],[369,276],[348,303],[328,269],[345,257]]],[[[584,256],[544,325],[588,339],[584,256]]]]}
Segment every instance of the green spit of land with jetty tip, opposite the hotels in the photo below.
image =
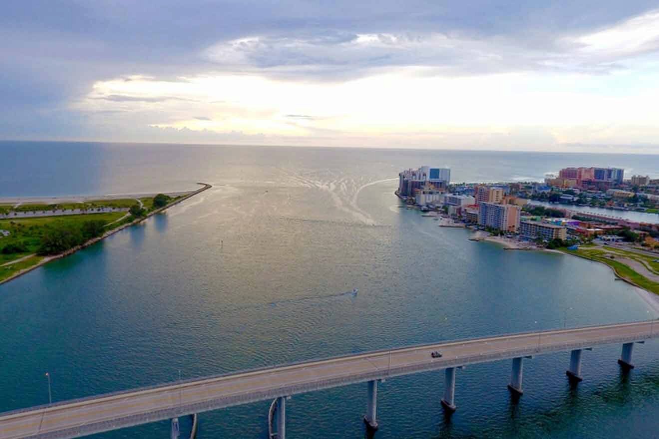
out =
{"type": "Polygon", "coordinates": [[[188,192],[0,201],[0,284],[71,255],[193,197],[188,192]]]}

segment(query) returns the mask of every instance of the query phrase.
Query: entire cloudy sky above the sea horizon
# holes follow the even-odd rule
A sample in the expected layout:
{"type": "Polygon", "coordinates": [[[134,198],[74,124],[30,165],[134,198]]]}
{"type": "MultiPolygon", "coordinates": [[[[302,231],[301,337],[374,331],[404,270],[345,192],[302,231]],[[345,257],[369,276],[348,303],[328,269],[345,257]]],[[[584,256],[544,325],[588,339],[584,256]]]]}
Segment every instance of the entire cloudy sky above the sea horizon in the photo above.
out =
{"type": "Polygon", "coordinates": [[[13,1],[0,138],[659,153],[655,1],[13,1]]]}

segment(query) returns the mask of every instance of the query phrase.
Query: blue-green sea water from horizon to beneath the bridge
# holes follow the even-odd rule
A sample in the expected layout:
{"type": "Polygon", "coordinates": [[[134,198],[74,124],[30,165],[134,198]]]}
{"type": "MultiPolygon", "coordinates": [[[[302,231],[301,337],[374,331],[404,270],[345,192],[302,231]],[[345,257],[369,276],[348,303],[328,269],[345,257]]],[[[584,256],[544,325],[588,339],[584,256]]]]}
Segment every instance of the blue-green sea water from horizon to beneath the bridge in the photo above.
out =
{"type": "MultiPolygon", "coordinates": [[[[164,215],[0,286],[0,411],[134,386],[405,344],[654,317],[604,266],[503,251],[399,208],[399,169],[451,167],[455,181],[541,179],[569,165],[654,174],[659,157],[469,151],[0,143],[0,197],[186,190],[164,215]],[[359,288],[358,297],[328,297],[359,288]],[[306,297],[312,297],[306,299],[306,297]],[[302,299],[304,298],[304,299],[302,299]],[[300,299],[300,300],[294,300],[300,299]]],[[[567,353],[457,379],[380,386],[378,438],[657,437],[659,344],[567,353]]],[[[265,438],[269,401],[200,415],[200,438],[265,438]]],[[[295,396],[293,438],[357,438],[366,384],[295,396]]],[[[189,428],[184,423],[183,428],[189,428]]],[[[98,435],[167,437],[168,423],[98,435]]]]}

